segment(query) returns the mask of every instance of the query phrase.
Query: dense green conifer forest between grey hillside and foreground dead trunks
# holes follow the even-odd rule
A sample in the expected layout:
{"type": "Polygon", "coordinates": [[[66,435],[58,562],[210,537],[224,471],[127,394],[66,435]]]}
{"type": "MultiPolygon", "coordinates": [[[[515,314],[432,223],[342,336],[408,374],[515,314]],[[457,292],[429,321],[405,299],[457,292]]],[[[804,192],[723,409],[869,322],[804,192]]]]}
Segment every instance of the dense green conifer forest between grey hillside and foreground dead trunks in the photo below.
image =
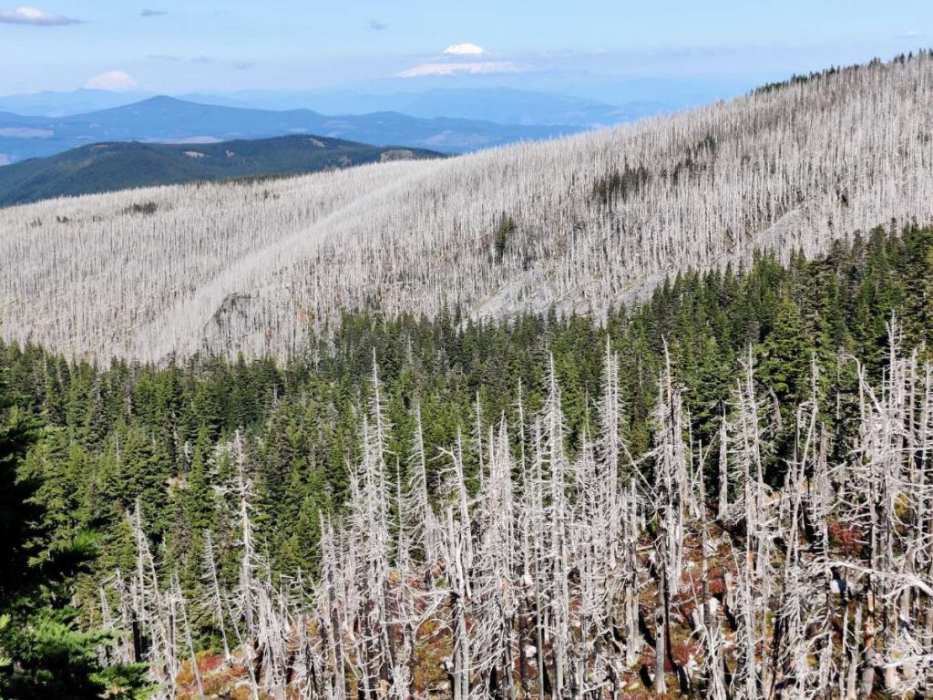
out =
{"type": "MultiPolygon", "coordinates": [[[[623,433],[640,454],[656,436],[651,414],[668,353],[684,386],[690,441],[717,441],[724,401],[749,353],[778,412],[765,481],[780,486],[795,449],[794,411],[819,368],[820,420],[829,454],[851,449],[857,357],[872,377],[887,359],[897,317],[907,347],[933,336],[933,230],[878,229],[828,256],[787,265],[759,256],[747,270],[687,273],[605,323],[585,315],[525,315],[507,323],[352,315],[285,364],[196,357],[178,366],[73,362],[35,345],[0,345],[0,697],[92,697],[142,684],[137,665],[101,675],[101,583],[132,571],[127,513],[137,506],[160,575],[205,600],[210,534],[218,574],[238,576],[230,450],[242,443],[255,488],[258,549],[276,575],[315,577],[321,515],[339,517],[360,457],[374,366],[383,387],[389,475],[411,465],[420,409],[428,491],[443,479],[436,455],[462,434],[464,473],[483,478],[476,439],[547,400],[550,357],[562,386],[565,449],[599,431],[594,402],[606,344],[620,361],[623,433]],[[469,420],[464,419],[469,416],[469,420]],[[57,639],[51,644],[49,639],[57,639]],[[69,669],[69,674],[56,669],[69,669]],[[118,676],[118,678],[114,678],[118,676]]],[[[926,352],[926,350],[922,351],[926,352]]],[[[518,450],[515,446],[513,449],[518,450]]],[[[717,470],[706,475],[717,491],[717,470]]],[[[216,650],[206,606],[189,612],[196,646],[216,650]]]]}

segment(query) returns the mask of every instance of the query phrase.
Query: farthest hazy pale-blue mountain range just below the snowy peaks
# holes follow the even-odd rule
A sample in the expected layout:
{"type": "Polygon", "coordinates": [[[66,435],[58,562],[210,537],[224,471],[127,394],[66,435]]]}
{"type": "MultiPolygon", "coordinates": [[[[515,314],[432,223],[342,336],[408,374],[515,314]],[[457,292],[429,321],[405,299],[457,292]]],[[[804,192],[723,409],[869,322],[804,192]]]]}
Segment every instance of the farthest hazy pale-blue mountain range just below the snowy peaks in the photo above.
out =
{"type": "MultiPolygon", "coordinates": [[[[784,73],[774,77],[783,76],[784,73]]],[[[743,94],[758,80],[727,77],[613,77],[581,70],[378,78],[334,88],[173,94],[204,105],[311,109],[321,114],[401,112],[411,117],[504,124],[610,125],[743,94]]],[[[152,92],[44,91],[0,96],[0,112],[64,117],[154,97],[152,92]]]]}

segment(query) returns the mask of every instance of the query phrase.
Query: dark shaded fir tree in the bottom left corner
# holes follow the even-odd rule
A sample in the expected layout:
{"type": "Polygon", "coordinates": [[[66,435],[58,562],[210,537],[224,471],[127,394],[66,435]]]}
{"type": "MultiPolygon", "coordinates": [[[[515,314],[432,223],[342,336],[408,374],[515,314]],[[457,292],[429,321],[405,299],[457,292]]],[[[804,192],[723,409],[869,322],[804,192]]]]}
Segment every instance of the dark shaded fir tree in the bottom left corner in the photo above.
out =
{"type": "Polygon", "coordinates": [[[56,537],[57,521],[37,497],[43,475],[22,473],[38,424],[13,405],[0,377],[0,697],[9,700],[146,694],[146,665],[104,667],[109,633],[82,630],[70,601],[96,536],[56,537]]]}

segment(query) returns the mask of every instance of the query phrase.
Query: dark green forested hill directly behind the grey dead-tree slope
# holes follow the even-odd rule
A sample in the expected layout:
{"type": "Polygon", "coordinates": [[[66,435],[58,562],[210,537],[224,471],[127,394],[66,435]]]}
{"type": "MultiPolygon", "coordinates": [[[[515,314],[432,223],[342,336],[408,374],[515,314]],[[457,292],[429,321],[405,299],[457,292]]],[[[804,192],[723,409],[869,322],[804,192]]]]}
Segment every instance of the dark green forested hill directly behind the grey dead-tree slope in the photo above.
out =
{"type": "Polygon", "coordinates": [[[219,144],[104,143],[0,168],[0,206],[118,189],[265,175],[369,162],[439,158],[435,151],[294,135],[219,144]]]}

